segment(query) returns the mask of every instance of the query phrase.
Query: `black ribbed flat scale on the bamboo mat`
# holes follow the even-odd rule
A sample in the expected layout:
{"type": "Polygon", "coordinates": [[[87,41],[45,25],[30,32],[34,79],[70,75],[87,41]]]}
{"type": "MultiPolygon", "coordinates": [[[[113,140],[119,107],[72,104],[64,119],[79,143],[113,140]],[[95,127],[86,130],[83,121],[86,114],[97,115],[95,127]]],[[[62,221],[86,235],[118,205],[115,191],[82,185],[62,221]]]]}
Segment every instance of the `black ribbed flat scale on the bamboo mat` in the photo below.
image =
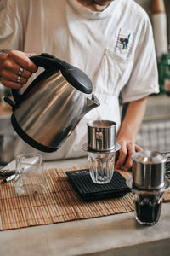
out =
{"type": "Polygon", "coordinates": [[[131,191],[127,187],[126,180],[119,172],[114,172],[110,183],[93,183],[89,170],[65,172],[71,180],[71,184],[77,190],[83,200],[98,200],[111,197],[122,197],[131,191]]]}

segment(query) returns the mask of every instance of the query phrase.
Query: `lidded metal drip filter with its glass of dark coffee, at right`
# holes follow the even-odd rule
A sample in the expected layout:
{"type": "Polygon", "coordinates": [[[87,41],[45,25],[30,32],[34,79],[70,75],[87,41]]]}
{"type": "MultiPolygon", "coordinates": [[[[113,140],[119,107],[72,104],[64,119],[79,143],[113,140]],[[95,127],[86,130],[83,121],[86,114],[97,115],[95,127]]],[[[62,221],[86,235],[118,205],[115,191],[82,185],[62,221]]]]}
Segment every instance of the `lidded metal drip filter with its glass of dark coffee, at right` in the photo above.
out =
{"type": "Polygon", "coordinates": [[[139,224],[156,224],[161,214],[164,192],[170,188],[165,176],[167,157],[156,151],[132,155],[133,177],[127,179],[132,189],[135,217],[139,224]]]}

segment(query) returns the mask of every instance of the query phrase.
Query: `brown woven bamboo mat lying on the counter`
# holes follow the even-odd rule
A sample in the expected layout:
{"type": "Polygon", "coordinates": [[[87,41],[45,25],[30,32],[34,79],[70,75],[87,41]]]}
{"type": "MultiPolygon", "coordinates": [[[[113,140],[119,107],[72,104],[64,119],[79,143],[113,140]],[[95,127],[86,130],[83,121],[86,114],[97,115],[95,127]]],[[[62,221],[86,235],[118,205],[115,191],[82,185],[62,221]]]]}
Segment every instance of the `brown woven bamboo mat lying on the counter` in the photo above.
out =
{"type": "MultiPolygon", "coordinates": [[[[72,168],[71,170],[84,169],[72,168]]],[[[82,201],[71,186],[65,172],[50,169],[44,172],[47,189],[42,195],[18,196],[14,181],[0,184],[0,230],[95,218],[133,211],[131,193],[117,199],[82,201]]],[[[122,172],[127,178],[127,172],[122,172]]],[[[169,196],[170,198],[170,196],[169,196]]]]}

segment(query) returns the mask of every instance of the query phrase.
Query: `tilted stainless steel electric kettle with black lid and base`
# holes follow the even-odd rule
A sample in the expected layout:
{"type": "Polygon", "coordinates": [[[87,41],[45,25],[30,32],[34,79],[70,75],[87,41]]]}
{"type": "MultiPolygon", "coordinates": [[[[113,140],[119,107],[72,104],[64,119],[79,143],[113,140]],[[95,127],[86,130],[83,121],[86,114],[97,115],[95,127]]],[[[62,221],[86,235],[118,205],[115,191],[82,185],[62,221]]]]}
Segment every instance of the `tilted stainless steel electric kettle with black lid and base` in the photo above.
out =
{"type": "Polygon", "coordinates": [[[83,115],[99,106],[88,76],[77,67],[42,54],[32,56],[45,70],[21,95],[12,90],[11,122],[19,136],[43,152],[54,152],[75,129],[83,115]]]}

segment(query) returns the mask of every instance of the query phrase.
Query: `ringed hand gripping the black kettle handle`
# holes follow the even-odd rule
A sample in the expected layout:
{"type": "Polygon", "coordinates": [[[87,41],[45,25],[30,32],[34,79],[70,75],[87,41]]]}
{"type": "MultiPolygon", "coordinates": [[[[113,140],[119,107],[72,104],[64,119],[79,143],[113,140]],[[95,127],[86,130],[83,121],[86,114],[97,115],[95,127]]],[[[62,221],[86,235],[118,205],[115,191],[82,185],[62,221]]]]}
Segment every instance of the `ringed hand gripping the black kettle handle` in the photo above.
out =
{"type": "Polygon", "coordinates": [[[19,50],[11,50],[8,54],[0,55],[1,83],[13,89],[20,89],[26,84],[32,73],[37,72],[37,66],[29,59],[35,54],[19,50]]]}

